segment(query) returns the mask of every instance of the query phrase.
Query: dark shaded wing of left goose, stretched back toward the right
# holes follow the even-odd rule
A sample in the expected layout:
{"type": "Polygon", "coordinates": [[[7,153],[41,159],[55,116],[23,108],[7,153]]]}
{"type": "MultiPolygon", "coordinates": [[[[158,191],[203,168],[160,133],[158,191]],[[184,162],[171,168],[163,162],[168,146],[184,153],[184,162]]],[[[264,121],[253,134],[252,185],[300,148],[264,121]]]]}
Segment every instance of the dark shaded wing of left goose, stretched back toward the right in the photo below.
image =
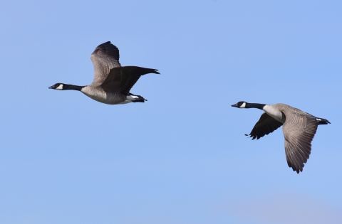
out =
{"type": "Polygon", "coordinates": [[[125,95],[130,95],[130,89],[135,85],[135,82],[139,80],[141,75],[147,73],[159,74],[155,69],[138,66],[113,68],[100,87],[108,92],[121,92],[125,95]]]}

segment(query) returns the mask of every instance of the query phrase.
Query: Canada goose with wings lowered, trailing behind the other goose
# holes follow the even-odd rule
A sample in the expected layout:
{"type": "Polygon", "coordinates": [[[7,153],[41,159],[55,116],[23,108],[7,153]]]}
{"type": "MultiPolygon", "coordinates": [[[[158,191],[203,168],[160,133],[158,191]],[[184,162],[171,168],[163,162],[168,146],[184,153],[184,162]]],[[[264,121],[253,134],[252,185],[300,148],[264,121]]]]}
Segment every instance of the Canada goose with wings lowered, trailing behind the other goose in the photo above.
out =
{"type": "Polygon", "coordinates": [[[318,125],[330,124],[327,119],[314,117],[311,114],[282,103],[264,105],[240,101],[232,105],[232,107],[264,110],[264,114],[261,114],[252,132],[246,134],[252,137],[252,140],[264,137],[265,134],[274,132],[284,124],[283,133],[287,164],[297,174],[299,174],[299,171],[303,171],[304,164],[309,159],[311,142],[314,139],[318,125]]]}

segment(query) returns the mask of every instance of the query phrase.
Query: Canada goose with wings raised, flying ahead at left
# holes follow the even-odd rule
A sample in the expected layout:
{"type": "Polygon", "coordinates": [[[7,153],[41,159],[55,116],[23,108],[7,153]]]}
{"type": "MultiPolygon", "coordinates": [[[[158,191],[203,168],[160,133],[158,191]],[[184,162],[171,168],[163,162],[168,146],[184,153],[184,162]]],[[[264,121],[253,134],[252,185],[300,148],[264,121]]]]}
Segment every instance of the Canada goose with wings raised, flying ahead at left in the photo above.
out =
{"type": "Polygon", "coordinates": [[[100,44],[90,55],[94,65],[94,80],[90,85],[78,86],[56,83],[53,90],[78,90],[98,102],[108,105],[145,102],[144,97],[130,93],[141,75],[160,74],[156,69],[123,66],[119,63],[119,49],[110,41],[100,44]]]}

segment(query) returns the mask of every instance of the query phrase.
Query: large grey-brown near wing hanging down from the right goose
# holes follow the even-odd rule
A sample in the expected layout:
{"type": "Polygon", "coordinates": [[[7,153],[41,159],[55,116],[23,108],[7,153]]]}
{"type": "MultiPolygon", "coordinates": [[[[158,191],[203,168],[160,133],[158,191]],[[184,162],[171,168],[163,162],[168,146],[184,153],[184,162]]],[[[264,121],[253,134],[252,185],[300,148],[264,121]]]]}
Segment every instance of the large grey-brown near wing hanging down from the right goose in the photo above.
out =
{"type": "Polygon", "coordinates": [[[283,132],[285,137],[286,161],[289,167],[299,174],[311,153],[318,122],[310,114],[293,114],[285,112],[283,132]],[[287,113],[287,114],[286,114],[287,113]]]}

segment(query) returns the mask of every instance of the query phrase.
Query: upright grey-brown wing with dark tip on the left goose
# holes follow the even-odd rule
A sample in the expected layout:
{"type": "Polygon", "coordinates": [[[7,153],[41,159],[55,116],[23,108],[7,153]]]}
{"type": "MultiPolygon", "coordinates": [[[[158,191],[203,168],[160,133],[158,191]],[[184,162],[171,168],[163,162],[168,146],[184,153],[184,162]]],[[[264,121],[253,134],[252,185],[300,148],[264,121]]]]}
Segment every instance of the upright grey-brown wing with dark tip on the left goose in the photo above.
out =
{"type": "Polygon", "coordinates": [[[108,76],[110,69],[120,67],[119,49],[110,41],[97,46],[90,55],[94,65],[93,85],[100,85],[108,76]]]}

